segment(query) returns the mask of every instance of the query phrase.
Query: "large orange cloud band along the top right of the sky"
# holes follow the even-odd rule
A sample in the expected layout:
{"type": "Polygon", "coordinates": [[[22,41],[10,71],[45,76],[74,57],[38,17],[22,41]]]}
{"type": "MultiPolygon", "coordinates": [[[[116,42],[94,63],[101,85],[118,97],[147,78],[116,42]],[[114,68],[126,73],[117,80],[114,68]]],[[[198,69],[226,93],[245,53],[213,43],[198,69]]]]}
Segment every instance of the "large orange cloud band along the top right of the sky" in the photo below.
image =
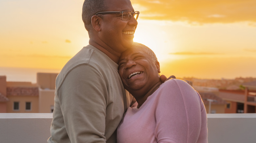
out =
{"type": "Polygon", "coordinates": [[[139,18],[188,23],[256,22],[255,0],[131,0],[139,18]]]}

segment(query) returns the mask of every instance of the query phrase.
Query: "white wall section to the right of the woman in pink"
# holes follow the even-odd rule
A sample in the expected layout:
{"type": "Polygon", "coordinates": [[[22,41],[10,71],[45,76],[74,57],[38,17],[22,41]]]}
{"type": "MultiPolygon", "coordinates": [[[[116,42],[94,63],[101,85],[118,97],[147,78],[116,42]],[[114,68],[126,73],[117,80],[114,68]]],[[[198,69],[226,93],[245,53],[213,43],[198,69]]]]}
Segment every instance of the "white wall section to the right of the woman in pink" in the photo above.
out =
{"type": "Polygon", "coordinates": [[[256,113],[207,114],[209,143],[255,143],[256,113]]]}

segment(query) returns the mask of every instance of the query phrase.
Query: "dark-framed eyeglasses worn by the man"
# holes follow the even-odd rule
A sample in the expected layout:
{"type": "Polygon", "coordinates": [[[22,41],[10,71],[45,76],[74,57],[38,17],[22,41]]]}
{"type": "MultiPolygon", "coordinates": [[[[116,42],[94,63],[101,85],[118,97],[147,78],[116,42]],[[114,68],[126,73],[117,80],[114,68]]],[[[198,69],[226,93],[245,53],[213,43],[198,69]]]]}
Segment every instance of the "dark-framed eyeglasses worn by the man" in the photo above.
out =
{"type": "Polygon", "coordinates": [[[98,14],[118,14],[118,13],[122,13],[122,20],[123,21],[128,21],[131,19],[131,17],[133,16],[136,20],[139,17],[139,11],[130,11],[130,10],[125,10],[125,11],[103,11],[103,12],[98,12],[95,15],[98,14]]]}

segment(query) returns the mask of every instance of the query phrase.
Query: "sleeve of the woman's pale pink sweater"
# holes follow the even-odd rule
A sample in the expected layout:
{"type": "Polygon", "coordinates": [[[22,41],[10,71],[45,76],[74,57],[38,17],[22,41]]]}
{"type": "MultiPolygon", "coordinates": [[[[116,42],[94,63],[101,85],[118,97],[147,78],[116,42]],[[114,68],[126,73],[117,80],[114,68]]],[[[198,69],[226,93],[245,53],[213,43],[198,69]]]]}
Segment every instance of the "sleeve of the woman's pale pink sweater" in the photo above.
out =
{"type": "Polygon", "coordinates": [[[162,86],[155,111],[158,143],[207,143],[207,118],[200,95],[178,79],[162,86]]]}

